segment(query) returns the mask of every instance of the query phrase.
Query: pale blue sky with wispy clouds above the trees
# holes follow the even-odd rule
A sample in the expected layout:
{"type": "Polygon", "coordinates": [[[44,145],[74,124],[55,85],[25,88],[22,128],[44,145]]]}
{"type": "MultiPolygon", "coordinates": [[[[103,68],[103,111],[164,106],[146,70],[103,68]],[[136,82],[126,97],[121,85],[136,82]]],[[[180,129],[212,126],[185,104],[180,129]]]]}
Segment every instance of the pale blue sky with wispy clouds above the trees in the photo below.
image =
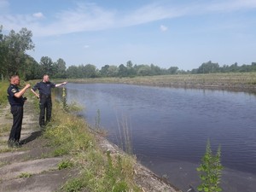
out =
{"type": "Polygon", "coordinates": [[[28,54],[67,67],[256,61],[256,0],[0,0],[0,25],[31,30],[28,54]]]}

